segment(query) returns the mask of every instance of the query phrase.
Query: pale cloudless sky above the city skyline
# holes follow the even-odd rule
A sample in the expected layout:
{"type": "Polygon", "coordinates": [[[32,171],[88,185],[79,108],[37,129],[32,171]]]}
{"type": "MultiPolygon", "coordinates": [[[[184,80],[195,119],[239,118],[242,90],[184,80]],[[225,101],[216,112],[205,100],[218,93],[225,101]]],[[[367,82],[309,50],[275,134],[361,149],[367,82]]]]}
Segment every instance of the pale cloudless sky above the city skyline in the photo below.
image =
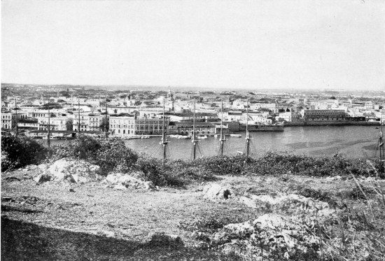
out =
{"type": "Polygon", "coordinates": [[[385,1],[2,0],[1,82],[385,90],[385,1]]]}

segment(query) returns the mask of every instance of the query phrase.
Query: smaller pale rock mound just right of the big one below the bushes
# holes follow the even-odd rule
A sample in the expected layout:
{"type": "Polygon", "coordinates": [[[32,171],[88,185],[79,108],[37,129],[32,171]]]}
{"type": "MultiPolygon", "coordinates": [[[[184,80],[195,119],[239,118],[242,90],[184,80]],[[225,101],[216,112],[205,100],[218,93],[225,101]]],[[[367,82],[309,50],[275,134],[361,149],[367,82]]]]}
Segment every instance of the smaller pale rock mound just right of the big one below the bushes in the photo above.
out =
{"type": "Polygon", "coordinates": [[[153,190],[155,185],[151,181],[144,181],[140,177],[141,174],[134,172],[132,174],[114,173],[109,174],[104,183],[108,183],[117,190],[125,190],[127,188],[153,190]]]}

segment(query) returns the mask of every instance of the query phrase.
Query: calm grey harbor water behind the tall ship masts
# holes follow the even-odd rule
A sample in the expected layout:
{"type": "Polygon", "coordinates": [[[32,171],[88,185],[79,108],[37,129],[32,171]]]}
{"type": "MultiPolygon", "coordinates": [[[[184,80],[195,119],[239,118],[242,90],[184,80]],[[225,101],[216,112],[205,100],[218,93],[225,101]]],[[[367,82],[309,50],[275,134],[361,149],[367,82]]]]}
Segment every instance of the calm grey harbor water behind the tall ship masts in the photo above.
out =
{"type": "MultiPolygon", "coordinates": [[[[225,155],[245,151],[245,132],[241,138],[226,136],[225,155]]],[[[285,127],[284,132],[250,132],[251,153],[258,157],[267,151],[286,151],[314,157],[340,153],[346,158],[370,158],[375,155],[379,129],[374,126],[302,126],[285,127]]],[[[190,160],[193,143],[190,139],[168,138],[169,156],[172,159],[190,160]]],[[[52,141],[52,145],[70,141],[52,141]]],[[[125,140],[127,147],[152,157],[162,157],[160,138],[125,140]]],[[[218,155],[219,138],[200,139],[203,157],[218,155]]],[[[378,155],[377,155],[378,156],[378,155]]]]}

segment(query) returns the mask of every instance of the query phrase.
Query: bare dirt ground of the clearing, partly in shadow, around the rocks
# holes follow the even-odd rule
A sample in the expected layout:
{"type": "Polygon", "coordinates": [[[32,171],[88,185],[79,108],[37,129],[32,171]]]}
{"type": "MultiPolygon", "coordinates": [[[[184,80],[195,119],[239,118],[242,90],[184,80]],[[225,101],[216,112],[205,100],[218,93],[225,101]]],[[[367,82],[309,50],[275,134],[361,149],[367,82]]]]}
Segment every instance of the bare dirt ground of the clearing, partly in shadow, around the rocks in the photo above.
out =
{"type": "MultiPolygon", "coordinates": [[[[34,170],[1,174],[1,260],[240,260],[235,255],[195,247],[181,222],[212,213],[235,211],[257,218],[258,209],[236,198],[203,198],[207,183],[187,188],[116,190],[100,182],[36,185],[34,170]],[[181,237],[184,246],[151,246],[151,234],[181,237]]],[[[220,176],[237,195],[285,192],[307,186],[338,197],[353,181],[325,181],[301,176],[220,176]]]]}

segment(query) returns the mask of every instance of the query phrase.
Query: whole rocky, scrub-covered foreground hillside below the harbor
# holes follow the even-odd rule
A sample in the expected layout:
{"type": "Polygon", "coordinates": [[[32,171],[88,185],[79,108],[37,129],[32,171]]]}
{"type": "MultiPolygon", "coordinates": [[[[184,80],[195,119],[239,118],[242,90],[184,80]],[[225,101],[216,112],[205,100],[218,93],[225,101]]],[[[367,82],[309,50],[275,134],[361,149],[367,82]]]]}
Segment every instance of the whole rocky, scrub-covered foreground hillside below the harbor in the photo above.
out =
{"type": "Polygon", "coordinates": [[[376,160],[162,162],[114,139],[1,142],[3,260],[384,260],[376,160]]]}

